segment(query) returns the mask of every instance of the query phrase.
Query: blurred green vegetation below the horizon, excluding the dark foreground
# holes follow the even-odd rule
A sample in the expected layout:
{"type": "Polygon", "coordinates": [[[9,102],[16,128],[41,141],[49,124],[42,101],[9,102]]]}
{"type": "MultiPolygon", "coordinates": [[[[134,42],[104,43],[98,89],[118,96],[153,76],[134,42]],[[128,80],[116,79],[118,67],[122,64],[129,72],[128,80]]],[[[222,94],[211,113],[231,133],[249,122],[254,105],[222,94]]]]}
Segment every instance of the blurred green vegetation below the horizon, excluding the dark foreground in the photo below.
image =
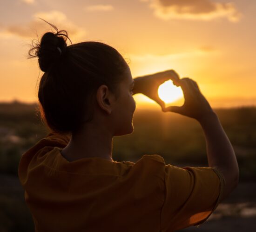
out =
{"type": "MultiPolygon", "coordinates": [[[[48,131],[36,104],[0,103],[0,172],[16,174],[20,156],[48,131]]],[[[215,109],[239,161],[241,179],[256,177],[256,108],[215,109]]],[[[203,131],[194,119],[161,110],[135,110],[134,132],[115,136],[113,159],[136,162],[161,155],[176,166],[207,166],[203,131]]]]}

